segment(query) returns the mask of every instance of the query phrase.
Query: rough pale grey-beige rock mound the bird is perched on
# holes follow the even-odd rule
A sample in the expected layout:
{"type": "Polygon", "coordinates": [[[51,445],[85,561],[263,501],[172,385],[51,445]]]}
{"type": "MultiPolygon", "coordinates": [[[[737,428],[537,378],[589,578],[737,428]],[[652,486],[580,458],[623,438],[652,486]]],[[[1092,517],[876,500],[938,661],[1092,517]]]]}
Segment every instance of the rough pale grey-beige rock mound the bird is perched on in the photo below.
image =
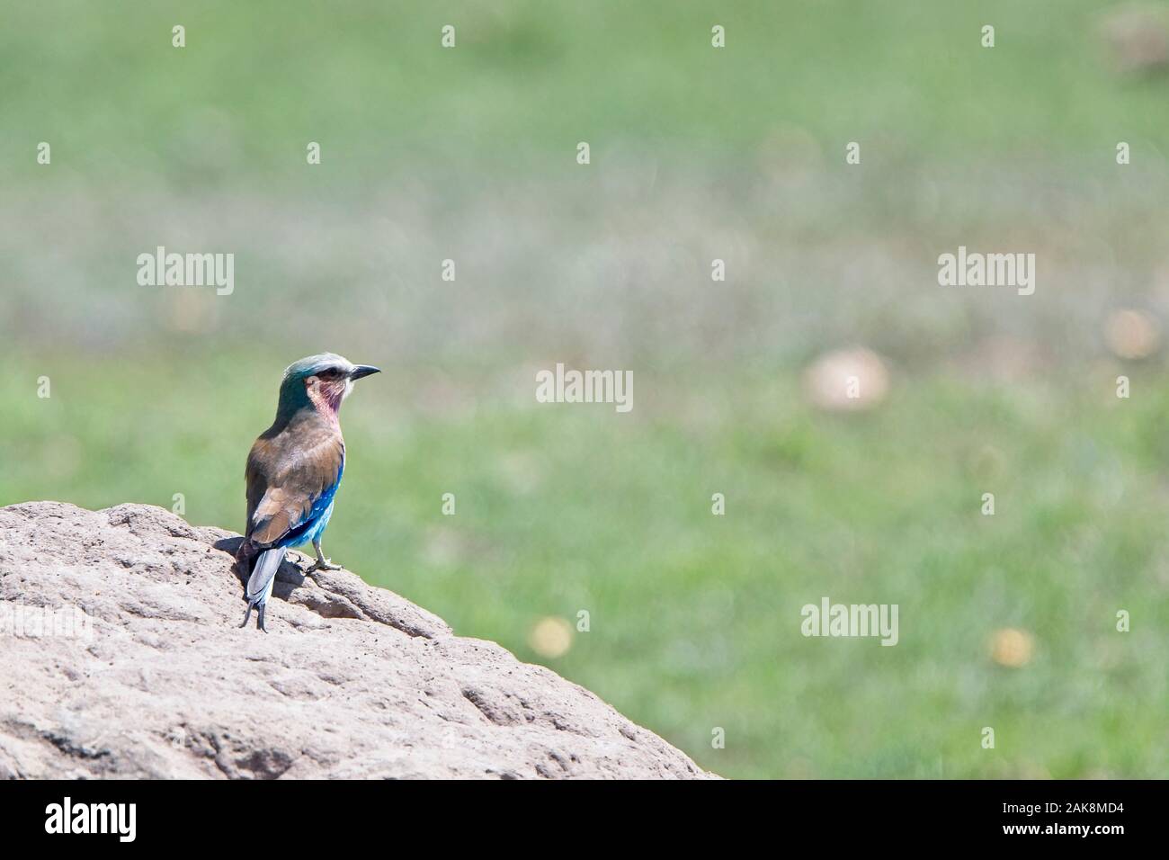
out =
{"type": "Polygon", "coordinates": [[[0,777],[712,776],[344,570],[286,560],[270,633],[240,629],[238,539],[141,504],[0,509],[0,777]]]}

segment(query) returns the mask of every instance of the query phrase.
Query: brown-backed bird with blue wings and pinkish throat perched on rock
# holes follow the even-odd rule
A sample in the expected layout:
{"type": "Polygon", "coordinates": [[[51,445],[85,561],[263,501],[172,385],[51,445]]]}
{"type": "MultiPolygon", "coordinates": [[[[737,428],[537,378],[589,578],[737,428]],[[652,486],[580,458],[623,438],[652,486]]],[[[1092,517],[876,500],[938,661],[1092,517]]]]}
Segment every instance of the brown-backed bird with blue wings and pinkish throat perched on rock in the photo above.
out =
{"type": "Polygon", "coordinates": [[[303,570],[305,575],[340,569],[325,558],[320,537],[345,472],[341,401],[353,383],[380,372],[333,352],[302,358],[285,369],[276,419],[251,446],[244,469],[248,522],[236,563],[241,573],[250,576],[240,627],[248,625],[255,608],[256,627],[268,632],[264,608],[285,549],[312,544],[317,560],[303,570]]]}

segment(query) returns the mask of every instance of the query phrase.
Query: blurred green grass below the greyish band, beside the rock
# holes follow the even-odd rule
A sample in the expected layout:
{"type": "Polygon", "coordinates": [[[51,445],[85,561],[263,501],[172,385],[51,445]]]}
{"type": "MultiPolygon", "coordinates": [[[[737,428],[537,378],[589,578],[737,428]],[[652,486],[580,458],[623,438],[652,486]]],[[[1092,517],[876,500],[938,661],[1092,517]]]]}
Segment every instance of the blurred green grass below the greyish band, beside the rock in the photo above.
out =
{"type": "MultiPolygon", "coordinates": [[[[240,529],[276,372],[247,356],[18,360],[0,383],[0,502],[170,508],[184,493],[192,522],[240,529]],[[51,398],[29,395],[37,373],[51,398]]],[[[873,414],[830,417],[783,371],[638,378],[629,415],[499,397],[514,380],[489,374],[436,395],[431,373],[393,369],[346,404],[325,548],[458,633],[549,662],[728,776],[1165,772],[1158,376],[1134,374],[1154,391],[1129,401],[1104,372],[924,378],[873,414]],[[800,608],[822,596],[899,604],[900,644],[804,639],[800,608]],[[592,629],[563,658],[531,649],[540,618],[580,610],[592,629]],[[1037,641],[1019,669],[989,658],[1008,626],[1037,641]]]]}

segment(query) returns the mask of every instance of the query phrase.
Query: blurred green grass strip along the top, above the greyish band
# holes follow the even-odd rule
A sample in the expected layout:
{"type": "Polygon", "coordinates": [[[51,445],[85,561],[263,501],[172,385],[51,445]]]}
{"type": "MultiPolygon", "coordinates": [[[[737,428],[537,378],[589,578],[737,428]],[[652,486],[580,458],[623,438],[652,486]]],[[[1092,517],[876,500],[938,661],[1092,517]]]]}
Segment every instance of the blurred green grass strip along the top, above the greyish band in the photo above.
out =
{"type": "MultiPolygon", "coordinates": [[[[420,161],[527,170],[577,140],[749,151],[801,133],[949,160],[1045,158],[1118,137],[1162,145],[1155,82],[1101,75],[1098,0],[340,5],[6,2],[0,164],[182,190],[265,187],[323,168],[365,183],[420,161]],[[181,23],[187,47],[171,47],[181,23]],[[440,29],[457,47],[440,48],[440,29]],[[714,23],[727,48],[710,46],[714,23]],[[981,27],[996,47],[980,47],[981,27]],[[65,166],[68,163],[68,167],[65,166]]],[[[876,151],[871,158],[878,158],[876,151]]]]}

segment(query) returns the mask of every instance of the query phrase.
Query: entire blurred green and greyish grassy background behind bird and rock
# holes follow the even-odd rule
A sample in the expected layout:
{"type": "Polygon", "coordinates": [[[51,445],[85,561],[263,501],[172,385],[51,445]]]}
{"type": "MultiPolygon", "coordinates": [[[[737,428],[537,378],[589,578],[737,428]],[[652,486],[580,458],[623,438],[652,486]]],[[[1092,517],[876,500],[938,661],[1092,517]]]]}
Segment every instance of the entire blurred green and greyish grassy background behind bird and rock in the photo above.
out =
{"type": "Polygon", "coordinates": [[[705,766],[1163,776],[1169,381],[1098,332],[1169,312],[1169,101],[1109,71],[1108,8],[0,0],[0,504],[238,530],[278,373],[333,349],[387,372],[327,552],[705,766]],[[158,243],[236,252],[236,294],[144,291],[158,243]],[[940,290],[959,243],[1037,250],[1036,296],[940,290]],[[850,342],[891,398],[817,413],[800,367],[850,342]],[[556,360],[632,369],[634,412],[537,405],[556,360]],[[900,644],[804,639],[822,596],[900,604],[900,644]]]}

